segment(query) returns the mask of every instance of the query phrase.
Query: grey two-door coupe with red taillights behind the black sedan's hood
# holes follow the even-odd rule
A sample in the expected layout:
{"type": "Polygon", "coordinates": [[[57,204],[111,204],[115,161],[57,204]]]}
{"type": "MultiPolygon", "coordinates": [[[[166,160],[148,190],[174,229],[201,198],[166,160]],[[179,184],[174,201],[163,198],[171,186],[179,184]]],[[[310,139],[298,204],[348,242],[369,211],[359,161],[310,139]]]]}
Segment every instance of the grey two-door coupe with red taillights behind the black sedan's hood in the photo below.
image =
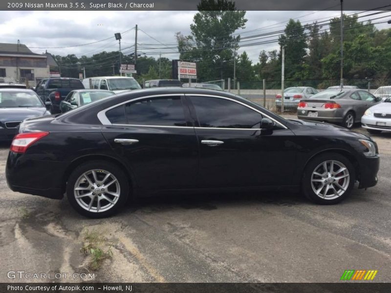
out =
{"type": "Polygon", "coordinates": [[[364,112],[380,99],[362,89],[329,89],[301,100],[297,117],[304,120],[340,123],[350,129],[364,112]]]}

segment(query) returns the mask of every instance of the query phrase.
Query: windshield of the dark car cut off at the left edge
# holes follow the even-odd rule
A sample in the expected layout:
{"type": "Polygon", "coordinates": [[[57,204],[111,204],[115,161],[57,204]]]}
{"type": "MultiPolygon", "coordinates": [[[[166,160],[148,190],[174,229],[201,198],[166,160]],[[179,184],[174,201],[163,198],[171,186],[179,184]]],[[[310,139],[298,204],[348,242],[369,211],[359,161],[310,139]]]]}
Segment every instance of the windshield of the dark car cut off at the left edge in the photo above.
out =
{"type": "Polygon", "coordinates": [[[1,91],[0,108],[11,107],[43,107],[43,104],[33,92],[1,91]]]}

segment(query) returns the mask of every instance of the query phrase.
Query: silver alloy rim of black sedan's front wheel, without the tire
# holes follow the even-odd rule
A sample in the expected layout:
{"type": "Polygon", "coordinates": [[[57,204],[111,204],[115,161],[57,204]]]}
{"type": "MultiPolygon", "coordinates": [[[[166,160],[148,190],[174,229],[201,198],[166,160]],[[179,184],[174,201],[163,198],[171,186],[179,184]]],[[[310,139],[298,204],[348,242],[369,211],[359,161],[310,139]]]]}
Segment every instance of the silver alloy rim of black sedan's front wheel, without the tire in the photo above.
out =
{"type": "Polygon", "coordinates": [[[325,161],[314,169],[311,187],[317,196],[332,200],[340,197],[348,189],[350,174],[348,168],[339,161],[325,161]]]}

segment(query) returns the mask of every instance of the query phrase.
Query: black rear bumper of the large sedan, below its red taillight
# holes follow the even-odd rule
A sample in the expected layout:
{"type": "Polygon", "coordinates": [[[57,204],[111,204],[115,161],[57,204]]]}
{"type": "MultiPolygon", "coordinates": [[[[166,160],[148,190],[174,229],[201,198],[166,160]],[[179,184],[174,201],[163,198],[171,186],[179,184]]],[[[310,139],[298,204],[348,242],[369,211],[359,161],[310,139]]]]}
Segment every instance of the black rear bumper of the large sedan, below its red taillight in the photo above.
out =
{"type": "Polygon", "coordinates": [[[34,160],[28,155],[9,152],[5,177],[13,191],[62,199],[64,162],[34,160]]]}

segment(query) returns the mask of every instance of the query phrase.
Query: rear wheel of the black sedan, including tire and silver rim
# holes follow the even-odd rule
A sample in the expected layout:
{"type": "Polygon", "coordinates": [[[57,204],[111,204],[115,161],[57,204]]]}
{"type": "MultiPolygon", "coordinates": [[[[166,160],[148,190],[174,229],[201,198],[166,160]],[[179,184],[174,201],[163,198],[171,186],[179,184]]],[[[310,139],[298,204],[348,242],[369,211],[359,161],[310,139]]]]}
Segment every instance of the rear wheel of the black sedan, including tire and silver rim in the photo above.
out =
{"type": "Polygon", "coordinates": [[[69,176],[66,195],[80,214],[103,218],[122,207],[129,193],[128,178],[114,164],[93,161],[77,167],[69,176]]]}

